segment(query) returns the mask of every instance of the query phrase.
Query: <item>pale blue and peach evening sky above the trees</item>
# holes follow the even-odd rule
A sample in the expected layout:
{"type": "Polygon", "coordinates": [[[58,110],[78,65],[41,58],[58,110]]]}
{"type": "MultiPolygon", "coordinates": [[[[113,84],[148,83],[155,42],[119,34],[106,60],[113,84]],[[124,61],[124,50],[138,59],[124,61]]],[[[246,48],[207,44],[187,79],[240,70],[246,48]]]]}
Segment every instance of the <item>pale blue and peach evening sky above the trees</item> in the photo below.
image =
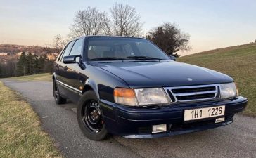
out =
{"type": "Polygon", "coordinates": [[[109,13],[115,3],[136,8],[145,32],[171,22],[190,34],[192,49],[181,55],[256,40],[255,0],[0,0],[0,44],[50,46],[56,34],[69,34],[79,9],[109,13]]]}

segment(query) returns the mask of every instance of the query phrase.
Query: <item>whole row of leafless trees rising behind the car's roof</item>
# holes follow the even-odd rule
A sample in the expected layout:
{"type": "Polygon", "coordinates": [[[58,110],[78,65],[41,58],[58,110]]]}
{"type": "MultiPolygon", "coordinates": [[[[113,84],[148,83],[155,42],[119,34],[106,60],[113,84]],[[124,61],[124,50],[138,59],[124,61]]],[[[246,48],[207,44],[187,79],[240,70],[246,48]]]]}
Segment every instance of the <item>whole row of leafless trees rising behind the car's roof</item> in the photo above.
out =
{"type": "Polygon", "coordinates": [[[127,37],[146,37],[159,46],[167,55],[179,57],[177,51],[188,51],[189,34],[184,33],[172,22],[165,22],[150,31],[143,30],[143,22],[136,8],[113,4],[109,13],[96,7],[87,6],[77,11],[66,38],[60,34],[54,37],[54,47],[63,48],[70,40],[87,35],[113,35],[127,37]]]}

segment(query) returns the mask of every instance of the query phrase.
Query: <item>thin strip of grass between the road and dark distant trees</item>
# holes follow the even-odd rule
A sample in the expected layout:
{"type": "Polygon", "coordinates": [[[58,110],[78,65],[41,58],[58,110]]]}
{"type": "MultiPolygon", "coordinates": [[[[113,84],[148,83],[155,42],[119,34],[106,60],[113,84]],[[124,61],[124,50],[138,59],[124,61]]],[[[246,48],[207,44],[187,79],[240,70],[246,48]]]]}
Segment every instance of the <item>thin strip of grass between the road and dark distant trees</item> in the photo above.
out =
{"type": "Polygon", "coordinates": [[[33,74],[21,77],[10,77],[6,79],[18,80],[18,81],[52,81],[51,74],[33,74]]]}

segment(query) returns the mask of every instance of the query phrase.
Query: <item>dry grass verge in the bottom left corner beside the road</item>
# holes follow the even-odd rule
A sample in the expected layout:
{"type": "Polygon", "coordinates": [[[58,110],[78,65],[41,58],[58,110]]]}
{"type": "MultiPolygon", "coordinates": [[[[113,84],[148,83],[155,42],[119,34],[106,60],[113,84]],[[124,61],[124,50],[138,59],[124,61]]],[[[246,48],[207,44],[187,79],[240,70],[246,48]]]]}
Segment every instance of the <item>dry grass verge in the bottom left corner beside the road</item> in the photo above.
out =
{"type": "Polygon", "coordinates": [[[62,157],[32,107],[1,81],[0,94],[0,157],[62,157]]]}

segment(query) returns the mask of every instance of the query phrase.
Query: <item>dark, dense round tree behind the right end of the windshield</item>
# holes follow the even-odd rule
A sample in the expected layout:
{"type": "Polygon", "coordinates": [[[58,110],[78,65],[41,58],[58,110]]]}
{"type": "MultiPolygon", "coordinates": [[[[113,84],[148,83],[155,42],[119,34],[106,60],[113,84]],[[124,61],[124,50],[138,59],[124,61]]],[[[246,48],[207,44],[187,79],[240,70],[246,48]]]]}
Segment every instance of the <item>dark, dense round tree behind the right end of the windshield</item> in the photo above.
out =
{"type": "Polygon", "coordinates": [[[174,24],[164,23],[148,32],[147,39],[158,45],[167,55],[179,56],[177,51],[188,51],[191,49],[189,34],[181,32],[174,24]]]}

